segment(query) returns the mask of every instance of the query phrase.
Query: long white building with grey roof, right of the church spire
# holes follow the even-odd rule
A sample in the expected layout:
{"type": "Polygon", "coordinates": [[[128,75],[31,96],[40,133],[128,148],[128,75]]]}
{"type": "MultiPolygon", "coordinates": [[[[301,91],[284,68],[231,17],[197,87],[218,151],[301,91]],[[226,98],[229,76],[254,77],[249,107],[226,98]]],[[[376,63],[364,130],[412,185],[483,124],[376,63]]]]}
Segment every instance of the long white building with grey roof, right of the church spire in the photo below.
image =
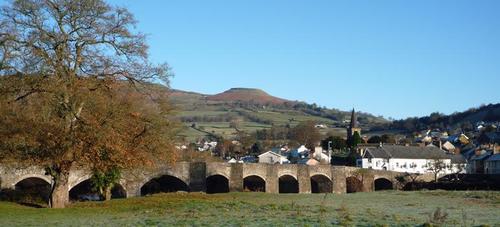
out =
{"type": "Polygon", "coordinates": [[[465,168],[457,168],[452,162],[456,159],[445,151],[434,147],[379,146],[367,148],[363,156],[357,160],[358,167],[376,170],[388,170],[403,173],[428,173],[432,164],[440,160],[446,168],[441,174],[454,171],[465,172],[465,168]]]}

